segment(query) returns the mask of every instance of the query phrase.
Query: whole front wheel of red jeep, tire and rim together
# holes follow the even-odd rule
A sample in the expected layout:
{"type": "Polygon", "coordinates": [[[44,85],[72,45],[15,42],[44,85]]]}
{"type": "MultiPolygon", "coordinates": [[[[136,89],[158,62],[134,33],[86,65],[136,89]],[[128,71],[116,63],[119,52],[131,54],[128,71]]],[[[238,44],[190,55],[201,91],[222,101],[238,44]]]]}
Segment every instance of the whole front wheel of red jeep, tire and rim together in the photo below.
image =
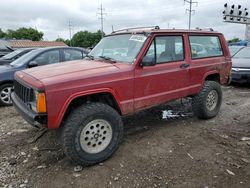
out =
{"type": "Polygon", "coordinates": [[[109,158],[123,136],[120,115],[102,103],[84,104],[64,121],[63,148],[76,164],[89,166],[109,158]]]}

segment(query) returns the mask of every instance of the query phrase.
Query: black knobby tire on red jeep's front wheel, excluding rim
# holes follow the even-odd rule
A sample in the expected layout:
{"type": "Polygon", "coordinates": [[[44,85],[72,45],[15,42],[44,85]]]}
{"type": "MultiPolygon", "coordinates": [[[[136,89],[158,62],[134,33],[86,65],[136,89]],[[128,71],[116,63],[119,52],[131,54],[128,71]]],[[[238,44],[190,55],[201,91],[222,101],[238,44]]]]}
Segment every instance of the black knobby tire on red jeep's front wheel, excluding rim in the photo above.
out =
{"type": "MultiPolygon", "coordinates": [[[[68,158],[76,164],[90,166],[109,158],[118,148],[123,137],[121,116],[112,107],[103,103],[83,104],[63,122],[62,143],[68,158]],[[84,127],[94,120],[105,120],[112,128],[112,138],[108,146],[98,153],[88,153],[81,146],[80,139],[84,127]]],[[[91,138],[92,139],[92,138],[91,138]]]]}

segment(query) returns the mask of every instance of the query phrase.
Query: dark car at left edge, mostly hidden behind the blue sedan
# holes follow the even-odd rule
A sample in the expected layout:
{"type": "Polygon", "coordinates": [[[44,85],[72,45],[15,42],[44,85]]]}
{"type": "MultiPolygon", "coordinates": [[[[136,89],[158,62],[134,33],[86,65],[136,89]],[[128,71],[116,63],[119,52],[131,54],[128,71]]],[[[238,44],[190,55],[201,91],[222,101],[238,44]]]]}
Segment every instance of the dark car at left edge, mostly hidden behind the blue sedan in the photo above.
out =
{"type": "Polygon", "coordinates": [[[6,65],[10,64],[12,61],[15,61],[19,57],[23,56],[24,54],[30,52],[34,48],[22,48],[22,49],[17,49],[3,57],[0,58],[0,65],[6,65]]]}

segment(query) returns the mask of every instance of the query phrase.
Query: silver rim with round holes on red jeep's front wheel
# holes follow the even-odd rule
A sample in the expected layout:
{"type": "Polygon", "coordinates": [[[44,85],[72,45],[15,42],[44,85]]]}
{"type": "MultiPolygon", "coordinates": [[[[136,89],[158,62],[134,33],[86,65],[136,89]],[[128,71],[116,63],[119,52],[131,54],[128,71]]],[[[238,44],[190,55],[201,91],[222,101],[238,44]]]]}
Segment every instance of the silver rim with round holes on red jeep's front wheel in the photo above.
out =
{"type": "Polygon", "coordinates": [[[110,144],[112,135],[113,131],[109,122],[104,119],[96,119],[82,129],[80,145],[87,153],[99,153],[110,144]]]}

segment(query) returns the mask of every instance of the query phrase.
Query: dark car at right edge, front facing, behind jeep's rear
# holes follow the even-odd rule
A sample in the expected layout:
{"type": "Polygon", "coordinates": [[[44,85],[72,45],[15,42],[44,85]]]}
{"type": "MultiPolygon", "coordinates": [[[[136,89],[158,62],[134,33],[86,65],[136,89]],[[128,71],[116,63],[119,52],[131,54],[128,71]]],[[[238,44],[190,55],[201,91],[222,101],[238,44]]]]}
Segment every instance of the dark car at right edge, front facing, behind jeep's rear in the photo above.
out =
{"type": "Polygon", "coordinates": [[[232,82],[250,82],[250,47],[245,47],[232,57],[232,82]]]}

